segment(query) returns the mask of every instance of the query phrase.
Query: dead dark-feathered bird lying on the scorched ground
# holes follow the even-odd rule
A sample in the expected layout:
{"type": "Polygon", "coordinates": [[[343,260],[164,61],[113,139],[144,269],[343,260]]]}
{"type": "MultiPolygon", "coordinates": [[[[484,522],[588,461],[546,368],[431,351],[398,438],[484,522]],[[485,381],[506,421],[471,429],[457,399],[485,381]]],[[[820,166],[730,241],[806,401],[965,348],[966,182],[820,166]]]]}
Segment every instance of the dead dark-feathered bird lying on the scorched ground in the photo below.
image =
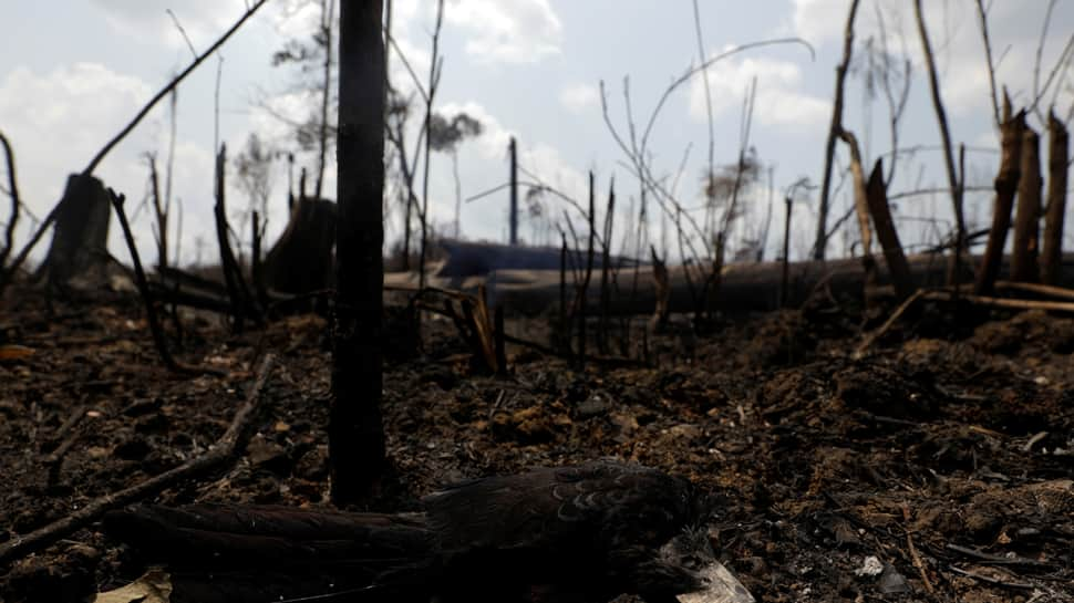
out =
{"type": "Polygon", "coordinates": [[[752,601],[715,560],[704,500],[688,480],[599,460],[456,484],[421,513],[135,506],[104,526],[166,566],[173,603],[752,601]]]}

